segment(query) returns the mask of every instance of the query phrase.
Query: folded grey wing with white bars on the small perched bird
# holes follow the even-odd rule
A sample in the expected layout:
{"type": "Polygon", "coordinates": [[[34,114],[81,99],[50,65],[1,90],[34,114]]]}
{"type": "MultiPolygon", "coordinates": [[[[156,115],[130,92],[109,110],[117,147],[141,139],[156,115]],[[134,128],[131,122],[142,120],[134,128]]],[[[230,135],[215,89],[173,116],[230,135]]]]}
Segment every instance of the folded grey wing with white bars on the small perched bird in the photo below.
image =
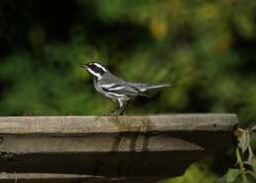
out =
{"type": "Polygon", "coordinates": [[[115,93],[125,94],[125,95],[149,96],[147,94],[142,93],[137,88],[133,86],[127,86],[127,85],[108,84],[108,85],[101,85],[100,88],[107,92],[115,92],[115,93]]]}

